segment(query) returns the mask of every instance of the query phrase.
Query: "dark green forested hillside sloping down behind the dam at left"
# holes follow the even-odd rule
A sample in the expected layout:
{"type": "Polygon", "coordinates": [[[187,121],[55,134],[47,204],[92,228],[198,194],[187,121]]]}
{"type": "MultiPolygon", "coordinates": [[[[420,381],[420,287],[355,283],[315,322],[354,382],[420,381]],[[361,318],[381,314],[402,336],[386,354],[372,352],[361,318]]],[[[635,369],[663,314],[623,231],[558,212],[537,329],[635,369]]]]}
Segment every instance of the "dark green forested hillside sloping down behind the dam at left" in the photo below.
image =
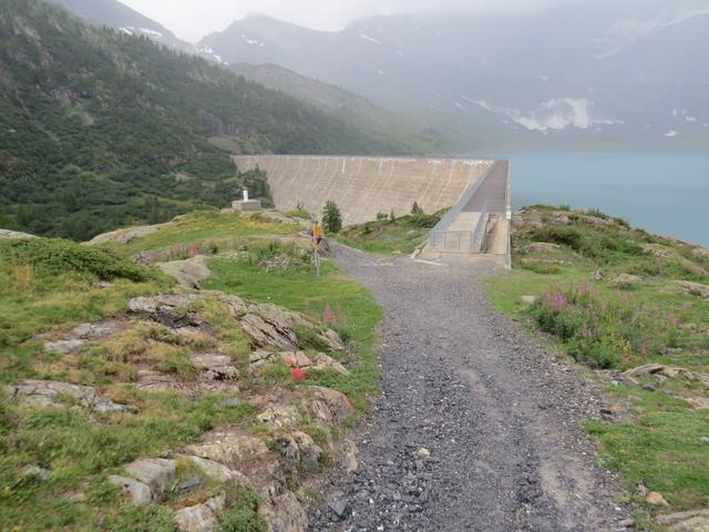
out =
{"type": "Polygon", "coordinates": [[[202,59],[40,0],[2,0],[0,227],[85,239],[223,206],[245,180],[267,192],[213,143],[245,153],[405,151],[202,59]]]}

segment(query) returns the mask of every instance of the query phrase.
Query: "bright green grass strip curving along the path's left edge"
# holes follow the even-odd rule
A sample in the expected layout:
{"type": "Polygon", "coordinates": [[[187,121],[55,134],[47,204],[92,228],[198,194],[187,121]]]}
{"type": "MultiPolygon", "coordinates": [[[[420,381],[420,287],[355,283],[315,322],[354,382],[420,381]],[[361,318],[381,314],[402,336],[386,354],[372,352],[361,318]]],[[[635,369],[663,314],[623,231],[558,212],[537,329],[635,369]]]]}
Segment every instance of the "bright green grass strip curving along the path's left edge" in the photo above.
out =
{"type": "Polygon", "coordinates": [[[325,260],[321,276],[314,270],[273,272],[266,274],[248,260],[216,258],[209,263],[214,278],[205,288],[223,290],[255,301],[274,303],[321,319],[326,306],[339,309],[342,319],[335,328],[348,338],[357,357],[351,376],[335,371],[312,371],[308,382],[327,386],[346,393],[359,411],[366,411],[377,391],[377,326],[381,308],[357,283],[347,279],[325,260]]]}

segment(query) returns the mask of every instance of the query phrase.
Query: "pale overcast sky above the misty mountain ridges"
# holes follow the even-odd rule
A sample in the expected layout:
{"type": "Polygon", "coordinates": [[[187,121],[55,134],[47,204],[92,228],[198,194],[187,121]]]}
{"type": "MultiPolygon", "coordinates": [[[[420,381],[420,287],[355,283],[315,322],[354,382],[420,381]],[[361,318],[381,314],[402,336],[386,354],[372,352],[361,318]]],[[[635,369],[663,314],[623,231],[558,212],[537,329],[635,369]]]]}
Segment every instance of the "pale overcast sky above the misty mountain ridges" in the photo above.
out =
{"type": "MultiPolygon", "coordinates": [[[[121,0],[196,42],[248,13],[268,14],[308,28],[338,30],[348,22],[373,14],[435,11],[528,11],[548,4],[593,0],[121,0]]],[[[597,1],[597,0],[596,0],[597,1]]],[[[671,0],[669,0],[671,1],[671,0]]]]}

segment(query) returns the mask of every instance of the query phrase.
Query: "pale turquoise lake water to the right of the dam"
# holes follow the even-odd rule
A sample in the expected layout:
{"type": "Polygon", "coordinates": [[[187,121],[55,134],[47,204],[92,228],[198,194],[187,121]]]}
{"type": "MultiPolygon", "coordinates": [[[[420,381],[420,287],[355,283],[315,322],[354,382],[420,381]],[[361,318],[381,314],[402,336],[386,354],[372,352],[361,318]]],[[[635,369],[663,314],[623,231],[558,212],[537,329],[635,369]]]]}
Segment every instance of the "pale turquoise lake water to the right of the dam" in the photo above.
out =
{"type": "Polygon", "coordinates": [[[596,207],[709,247],[707,154],[507,154],[515,208],[596,207]]]}

